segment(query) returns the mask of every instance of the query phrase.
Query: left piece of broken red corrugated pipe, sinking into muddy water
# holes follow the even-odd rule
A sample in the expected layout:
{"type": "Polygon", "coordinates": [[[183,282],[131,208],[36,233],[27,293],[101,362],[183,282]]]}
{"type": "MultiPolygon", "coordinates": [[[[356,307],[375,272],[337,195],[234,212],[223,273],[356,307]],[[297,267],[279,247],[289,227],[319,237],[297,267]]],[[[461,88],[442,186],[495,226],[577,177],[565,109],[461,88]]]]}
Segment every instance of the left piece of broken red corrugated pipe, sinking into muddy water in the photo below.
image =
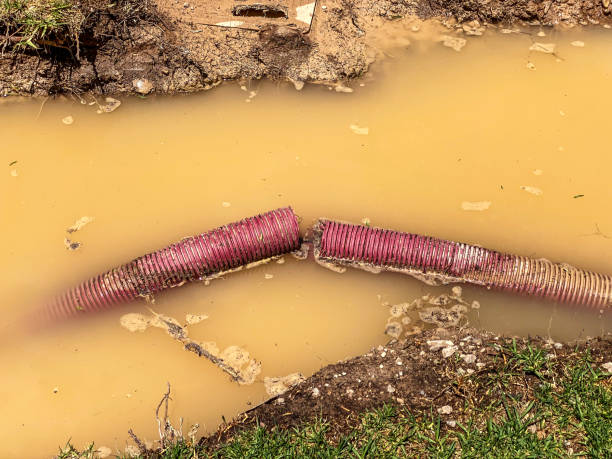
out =
{"type": "Polygon", "coordinates": [[[203,280],[299,248],[297,216],[290,207],[276,209],[207,233],[182,239],[92,277],[55,298],[45,308],[48,319],[109,309],[137,297],[203,280]]]}

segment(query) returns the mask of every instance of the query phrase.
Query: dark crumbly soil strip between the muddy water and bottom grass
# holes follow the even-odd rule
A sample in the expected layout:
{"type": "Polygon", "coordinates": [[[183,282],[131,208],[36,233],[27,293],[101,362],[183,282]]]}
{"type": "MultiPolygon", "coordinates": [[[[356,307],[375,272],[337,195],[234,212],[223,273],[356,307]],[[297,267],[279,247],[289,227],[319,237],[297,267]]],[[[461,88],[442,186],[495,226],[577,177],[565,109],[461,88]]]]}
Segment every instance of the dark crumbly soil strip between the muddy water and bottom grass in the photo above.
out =
{"type": "MultiPolygon", "coordinates": [[[[560,363],[575,361],[587,348],[597,367],[605,368],[612,359],[611,336],[572,344],[541,338],[517,338],[516,343],[518,347],[529,343],[543,348],[546,359],[560,363]]],[[[464,413],[475,406],[490,405],[498,398],[488,390],[487,378],[504,373],[511,345],[510,338],[474,329],[454,333],[430,330],[392,341],[362,356],[322,368],[287,392],[222,425],[215,434],[202,438],[200,444],[214,450],[247,427],[259,424],[286,429],[317,417],[329,422],[332,435],[340,436],[355,427],[360,413],[384,403],[404,406],[411,412],[434,411],[451,423],[462,422],[464,413]]],[[[508,388],[507,395],[529,399],[541,382],[537,372],[526,372],[520,384],[508,388]]]]}

